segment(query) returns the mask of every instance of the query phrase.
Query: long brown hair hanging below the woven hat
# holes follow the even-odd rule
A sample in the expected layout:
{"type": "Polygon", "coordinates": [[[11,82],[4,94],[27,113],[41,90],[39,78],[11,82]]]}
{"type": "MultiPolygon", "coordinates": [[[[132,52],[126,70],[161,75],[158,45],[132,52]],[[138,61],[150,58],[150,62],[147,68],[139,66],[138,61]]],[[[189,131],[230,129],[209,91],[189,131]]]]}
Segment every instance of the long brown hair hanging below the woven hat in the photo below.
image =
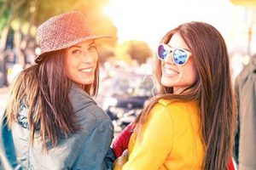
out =
{"type": "MultiPolygon", "coordinates": [[[[68,89],[72,82],[65,76],[65,49],[44,56],[38,65],[32,65],[21,71],[17,77],[7,107],[9,127],[17,121],[20,104],[28,108],[27,120],[32,132],[31,143],[35,133],[43,140],[47,150],[58,143],[60,135],[66,137],[77,131],[79,125],[73,114],[73,107],[68,99],[68,89]]],[[[84,91],[95,96],[99,82],[98,65],[93,84],[83,86],[84,91]]]]}

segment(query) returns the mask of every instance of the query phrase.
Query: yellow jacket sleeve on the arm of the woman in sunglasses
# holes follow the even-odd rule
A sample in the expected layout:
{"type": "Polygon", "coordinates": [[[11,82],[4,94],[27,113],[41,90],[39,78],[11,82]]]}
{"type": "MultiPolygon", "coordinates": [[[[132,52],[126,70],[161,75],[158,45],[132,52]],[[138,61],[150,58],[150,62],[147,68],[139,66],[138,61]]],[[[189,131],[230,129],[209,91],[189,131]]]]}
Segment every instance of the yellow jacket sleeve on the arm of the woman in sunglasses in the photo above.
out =
{"type": "Polygon", "coordinates": [[[123,169],[159,169],[172,150],[172,132],[172,117],[168,109],[160,104],[155,105],[143,128],[141,142],[136,142],[123,169]]]}

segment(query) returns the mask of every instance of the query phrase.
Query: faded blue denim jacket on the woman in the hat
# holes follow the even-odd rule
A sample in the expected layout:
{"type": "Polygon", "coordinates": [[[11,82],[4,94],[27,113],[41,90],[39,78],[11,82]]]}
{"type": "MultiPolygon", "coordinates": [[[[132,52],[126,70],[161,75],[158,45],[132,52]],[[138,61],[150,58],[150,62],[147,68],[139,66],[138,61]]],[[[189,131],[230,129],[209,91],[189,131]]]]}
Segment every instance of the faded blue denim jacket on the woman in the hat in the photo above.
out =
{"type": "Polygon", "coordinates": [[[12,129],[3,119],[3,151],[15,169],[90,169],[113,168],[113,124],[108,115],[96,105],[90,95],[73,84],[69,99],[77,116],[81,130],[73,133],[48,152],[42,150],[41,138],[35,137],[30,144],[26,105],[20,105],[17,122],[12,129]]]}

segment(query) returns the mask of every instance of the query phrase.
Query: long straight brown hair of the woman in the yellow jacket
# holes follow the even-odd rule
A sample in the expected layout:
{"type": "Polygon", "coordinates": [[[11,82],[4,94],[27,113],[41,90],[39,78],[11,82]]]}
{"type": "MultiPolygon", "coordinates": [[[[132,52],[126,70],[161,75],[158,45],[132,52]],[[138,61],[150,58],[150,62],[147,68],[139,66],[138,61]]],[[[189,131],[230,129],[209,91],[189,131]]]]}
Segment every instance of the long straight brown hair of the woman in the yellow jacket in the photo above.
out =
{"type": "MultiPolygon", "coordinates": [[[[189,22],[166,33],[161,42],[168,43],[178,33],[188,45],[198,80],[183,94],[173,94],[172,87],[160,86],[160,94],[151,99],[137,118],[137,138],[148,112],[159,99],[195,100],[200,103],[201,133],[205,144],[203,169],[227,169],[232,155],[236,131],[236,100],[230,81],[229,54],[221,34],[202,22],[189,22]]],[[[160,82],[160,60],[156,63],[156,77],[160,82]]]]}

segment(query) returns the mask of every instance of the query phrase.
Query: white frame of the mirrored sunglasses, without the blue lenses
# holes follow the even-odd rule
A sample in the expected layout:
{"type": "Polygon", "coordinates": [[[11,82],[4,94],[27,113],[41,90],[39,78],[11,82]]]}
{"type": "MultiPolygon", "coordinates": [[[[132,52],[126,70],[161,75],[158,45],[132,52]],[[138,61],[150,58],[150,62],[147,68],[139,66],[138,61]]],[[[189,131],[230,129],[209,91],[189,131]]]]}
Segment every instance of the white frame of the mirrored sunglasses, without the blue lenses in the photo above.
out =
{"type": "Polygon", "coordinates": [[[167,47],[167,54],[166,54],[166,57],[167,57],[169,54],[172,54],[172,61],[173,61],[173,63],[174,63],[175,65],[178,65],[178,66],[185,65],[185,64],[187,63],[187,61],[189,60],[189,57],[192,55],[191,52],[189,52],[189,51],[186,50],[186,49],[183,49],[183,48],[172,48],[170,45],[168,45],[168,44],[166,44],[166,43],[160,43],[160,44],[158,45],[158,48],[157,48],[157,57],[158,57],[158,59],[160,59],[160,60],[162,60],[162,61],[165,61],[165,60],[166,60],[166,57],[165,57],[165,59],[160,58],[160,55],[159,55],[159,52],[158,52],[160,45],[162,45],[162,46],[164,46],[164,47],[167,47]],[[182,65],[177,64],[177,63],[175,62],[173,53],[174,53],[176,50],[182,50],[183,52],[185,52],[185,53],[188,55],[187,59],[185,60],[185,62],[184,62],[182,65]]]}

